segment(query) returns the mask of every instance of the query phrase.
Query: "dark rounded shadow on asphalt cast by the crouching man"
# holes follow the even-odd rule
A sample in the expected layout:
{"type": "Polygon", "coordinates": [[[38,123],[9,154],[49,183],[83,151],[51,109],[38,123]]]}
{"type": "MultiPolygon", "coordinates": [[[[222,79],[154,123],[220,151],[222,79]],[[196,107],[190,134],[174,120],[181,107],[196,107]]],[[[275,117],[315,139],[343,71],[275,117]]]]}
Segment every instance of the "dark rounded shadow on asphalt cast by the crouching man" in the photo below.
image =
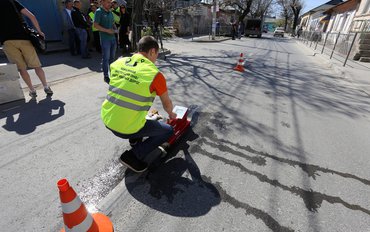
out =
{"type": "MultiPolygon", "coordinates": [[[[189,130],[186,135],[195,135],[189,130]]],[[[171,150],[169,158],[149,172],[147,178],[127,170],[126,188],[136,200],[160,212],[177,217],[205,215],[221,202],[221,196],[216,187],[203,180],[186,141],[175,146],[179,149],[171,150]],[[177,156],[180,150],[184,158],[177,156]]]]}

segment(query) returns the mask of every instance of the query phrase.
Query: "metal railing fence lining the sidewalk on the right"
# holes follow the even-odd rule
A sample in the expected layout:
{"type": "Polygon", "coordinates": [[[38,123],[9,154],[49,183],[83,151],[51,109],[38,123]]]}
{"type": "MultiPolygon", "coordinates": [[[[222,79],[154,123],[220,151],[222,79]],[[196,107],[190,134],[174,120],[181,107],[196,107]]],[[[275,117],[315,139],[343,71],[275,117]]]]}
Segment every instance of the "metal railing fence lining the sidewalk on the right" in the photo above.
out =
{"type": "Polygon", "coordinates": [[[318,50],[321,54],[326,53],[333,58],[333,55],[344,58],[343,66],[346,65],[348,58],[356,57],[356,49],[354,44],[360,35],[370,34],[370,32],[351,32],[351,33],[319,33],[314,31],[304,31],[298,37],[307,46],[318,50]]]}

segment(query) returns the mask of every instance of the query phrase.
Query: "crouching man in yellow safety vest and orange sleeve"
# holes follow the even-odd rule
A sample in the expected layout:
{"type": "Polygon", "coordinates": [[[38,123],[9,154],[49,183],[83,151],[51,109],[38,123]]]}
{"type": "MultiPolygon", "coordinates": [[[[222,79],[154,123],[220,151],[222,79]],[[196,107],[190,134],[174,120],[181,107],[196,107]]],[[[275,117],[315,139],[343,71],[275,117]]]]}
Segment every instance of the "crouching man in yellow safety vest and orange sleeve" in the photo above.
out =
{"type": "Polygon", "coordinates": [[[151,36],[138,43],[139,52],[110,65],[109,90],[101,109],[105,126],[120,138],[129,139],[131,150],[119,161],[135,172],[144,172],[148,164],[143,160],[158,146],[167,142],[173,128],[160,121],[146,120],[146,115],[158,95],[170,119],[175,119],[168,95],[166,79],[155,66],[159,45],[151,36]],[[143,137],[148,137],[142,141],[143,137]]]}

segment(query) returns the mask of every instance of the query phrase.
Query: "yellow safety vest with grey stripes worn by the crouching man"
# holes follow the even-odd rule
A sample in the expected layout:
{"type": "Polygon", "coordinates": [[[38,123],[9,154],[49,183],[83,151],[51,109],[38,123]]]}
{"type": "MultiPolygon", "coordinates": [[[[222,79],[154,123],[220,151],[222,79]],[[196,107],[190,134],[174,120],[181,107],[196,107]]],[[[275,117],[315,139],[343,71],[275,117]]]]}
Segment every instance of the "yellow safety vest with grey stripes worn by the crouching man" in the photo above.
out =
{"type": "Polygon", "coordinates": [[[110,65],[110,86],[101,109],[104,124],[119,133],[133,134],[146,122],[156,93],[150,92],[158,68],[141,54],[110,65]]]}

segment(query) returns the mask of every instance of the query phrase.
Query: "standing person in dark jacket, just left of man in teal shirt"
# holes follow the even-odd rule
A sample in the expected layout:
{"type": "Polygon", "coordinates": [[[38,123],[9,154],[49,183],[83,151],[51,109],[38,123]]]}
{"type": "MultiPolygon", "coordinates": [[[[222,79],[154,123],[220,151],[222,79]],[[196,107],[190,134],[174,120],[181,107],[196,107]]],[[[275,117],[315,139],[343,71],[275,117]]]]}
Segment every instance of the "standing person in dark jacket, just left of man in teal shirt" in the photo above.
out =
{"type": "Polygon", "coordinates": [[[86,21],[85,16],[80,11],[81,2],[79,0],[73,1],[74,10],[71,13],[73,24],[75,25],[77,36],[80,39],[81,57],[83,59],[91,58],[87,48],[87,29],[89,24],[86,21]]]}

